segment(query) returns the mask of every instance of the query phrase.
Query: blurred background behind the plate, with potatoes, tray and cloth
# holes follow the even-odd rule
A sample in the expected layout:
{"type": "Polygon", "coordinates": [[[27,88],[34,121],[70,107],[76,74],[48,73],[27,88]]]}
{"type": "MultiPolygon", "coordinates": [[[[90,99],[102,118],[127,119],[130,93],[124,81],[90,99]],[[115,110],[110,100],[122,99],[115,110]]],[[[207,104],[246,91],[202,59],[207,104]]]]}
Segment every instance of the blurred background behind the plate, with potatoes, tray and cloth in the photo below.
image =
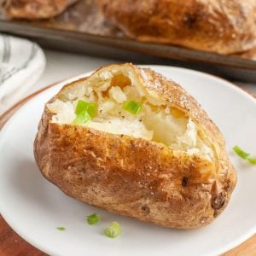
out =
{"type": "Polygon", "coordinates": [[[0,113],[47,84],[124,61],[192,68],[253,93],[255,13],[250,0],[1,0],[0,113]]]}

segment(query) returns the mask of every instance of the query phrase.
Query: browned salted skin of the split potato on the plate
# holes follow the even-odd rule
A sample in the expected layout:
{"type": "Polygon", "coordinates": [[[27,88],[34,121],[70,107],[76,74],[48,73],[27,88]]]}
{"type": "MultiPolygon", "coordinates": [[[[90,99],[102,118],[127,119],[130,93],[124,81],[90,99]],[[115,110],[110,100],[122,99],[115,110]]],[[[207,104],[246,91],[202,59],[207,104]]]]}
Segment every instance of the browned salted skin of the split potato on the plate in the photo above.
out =
{"type": "MultiPolygon", "coordinates": [[[[67,195],[109,212],[169,228],[192,229],[209,224],[224,210],[236,185],[224,138],[179,85],[149,69],[143,69],[149,76],[145,81],[141,69],[124,65],[141,78],[148,90],[194,119],[201,137],[212,145],[214,163],[141,138],[52,123],[53,113],[45,107],[34,143],[40,171],[67,195]],[[155,88],[154,83],[161,86],[155,88]],[[185,96],[187,102],[181,102],[180,96],[185,96]]],[[[118,65],[103,69],[112,67],[118,65]]],[[[49,102],[75,84],[68,84],[49,102]]]]}

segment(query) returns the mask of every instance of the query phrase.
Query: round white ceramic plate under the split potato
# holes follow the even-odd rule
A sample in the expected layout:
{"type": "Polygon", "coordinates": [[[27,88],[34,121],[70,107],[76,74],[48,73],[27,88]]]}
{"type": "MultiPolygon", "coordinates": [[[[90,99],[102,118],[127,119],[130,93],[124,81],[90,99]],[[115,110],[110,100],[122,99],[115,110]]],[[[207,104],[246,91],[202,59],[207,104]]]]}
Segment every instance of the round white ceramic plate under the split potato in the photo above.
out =
{"type": "Polygon", "coordinates": [[[168,230],[90,207],[46,181],[33,158],[33,140],[44,102],[66,81],[26,103],[0,132],[0,211],[26,241],[50,255],[200,256],[224,253],[253,235],[256,168],[240,160],[231,148],[238,144],[256,153],[256,101],[232,84],[205,73],[177,67],[152,68],[183,84],[224,133],[238,172],[227,209],[200,230],[168,230]],[[93,212],[102,215],[102,223],[89,226],[84,217],[93,212]],[[123,227],[123,234],[116,239],[102,235],[111,221],[123,227]],[[58,226],[67,230],[56,230],[58,226]]]}

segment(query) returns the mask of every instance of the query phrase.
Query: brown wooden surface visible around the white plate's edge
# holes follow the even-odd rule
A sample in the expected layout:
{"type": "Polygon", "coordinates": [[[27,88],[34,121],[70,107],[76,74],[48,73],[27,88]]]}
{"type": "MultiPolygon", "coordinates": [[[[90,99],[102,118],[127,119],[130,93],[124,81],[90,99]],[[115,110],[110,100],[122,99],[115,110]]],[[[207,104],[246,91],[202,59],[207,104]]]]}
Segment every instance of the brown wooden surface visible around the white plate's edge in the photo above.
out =
{"type": "MultiPolygon", "coordinates": [[[[9,117],[15,113],[15,111],[20,108],[24,103],[30,100],[33,96],[38,95],[38,93],[43,90],[48,89],[54,84],[45,87],[38,92],[35,92],[31,96],[27,96],[22,101],[18,102],[9,111],[3,113],[0,116],[0,129],[3,127],[5,122],[9,117]]],[[[47,254],[42,253],[37,248],[32,247],[29,243],[18,236],[14,230],[12,230],[9,225],[5,222],[3,217],[0,215],[0,256],[45,256],[47,254]]],[[[232,249],[228,253],[224,253],[223,256],[256,256],[256,235],[252,236],[250,239],[242,243],[240,246],[232,249]]]]}

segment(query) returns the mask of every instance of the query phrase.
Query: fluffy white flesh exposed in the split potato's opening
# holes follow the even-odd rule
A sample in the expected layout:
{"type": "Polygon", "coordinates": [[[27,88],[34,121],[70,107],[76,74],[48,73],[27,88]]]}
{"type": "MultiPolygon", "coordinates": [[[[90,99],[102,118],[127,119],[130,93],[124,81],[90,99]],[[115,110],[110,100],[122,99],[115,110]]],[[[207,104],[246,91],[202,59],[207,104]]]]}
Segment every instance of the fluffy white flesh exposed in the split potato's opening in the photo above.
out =
{"type": "Polygon", "coordinates": [[[130,69],[102,69],[89,79],[61,90],[55,102],[47,105],[55,113],[52,122],[73,125],[80,100],[93,102],[97,108],[96,115],[81,125],[163,143],[174,150],[201,154],[212,160],[212,149],[202,141],[193,120],[180,109],[170,107],[154,91],[147,90],[130,69]],[[142,103],[141,111],[136,114],[127,111],[125,102],[142,103]]]}

